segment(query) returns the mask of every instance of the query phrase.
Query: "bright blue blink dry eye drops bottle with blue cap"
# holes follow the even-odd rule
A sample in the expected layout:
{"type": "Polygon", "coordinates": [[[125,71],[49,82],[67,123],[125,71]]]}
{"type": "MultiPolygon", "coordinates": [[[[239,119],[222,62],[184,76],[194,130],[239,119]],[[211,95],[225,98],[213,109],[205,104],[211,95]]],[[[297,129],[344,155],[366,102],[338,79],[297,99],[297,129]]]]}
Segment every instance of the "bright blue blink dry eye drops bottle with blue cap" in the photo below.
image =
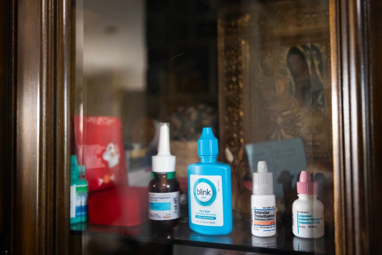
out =
{"type": "Polygon", "coordinates": [[[198,140],[200,163],[188,166],[190,229],[200,234],[232,231],[231,167],[216,161],[217,139],[203,128],[198,140]]]}

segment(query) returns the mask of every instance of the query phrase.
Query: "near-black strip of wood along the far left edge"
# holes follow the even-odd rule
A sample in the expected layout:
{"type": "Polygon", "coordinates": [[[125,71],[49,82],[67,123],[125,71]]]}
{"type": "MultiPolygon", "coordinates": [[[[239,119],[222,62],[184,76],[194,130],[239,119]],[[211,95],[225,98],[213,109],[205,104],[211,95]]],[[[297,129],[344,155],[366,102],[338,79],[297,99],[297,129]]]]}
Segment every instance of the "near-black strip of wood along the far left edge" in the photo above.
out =
{"type": "Polygon", "coordinates": [[[12,173],[15,169],[14,1],[0,0],[0,252],[11,251],[12,173]]]}

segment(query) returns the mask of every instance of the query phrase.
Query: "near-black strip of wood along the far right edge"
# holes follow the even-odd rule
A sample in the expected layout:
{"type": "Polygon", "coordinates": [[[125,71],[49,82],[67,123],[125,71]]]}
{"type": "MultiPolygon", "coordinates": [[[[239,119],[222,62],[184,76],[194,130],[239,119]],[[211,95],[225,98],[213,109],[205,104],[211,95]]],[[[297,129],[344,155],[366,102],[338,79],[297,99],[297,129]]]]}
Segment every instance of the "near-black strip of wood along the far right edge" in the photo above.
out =
{"type": "Polygon", "coordinates": [[[370,254],[380,254],[382,251],[381,229],[382,221],[382,1],[370,0],[368,7],[368,55],[369,58],[369,86],[371,100],[371,165],[367,173],[367,181],[370,184],[369,210],[371,213],[369,225],[370,231],[370,254]]]}

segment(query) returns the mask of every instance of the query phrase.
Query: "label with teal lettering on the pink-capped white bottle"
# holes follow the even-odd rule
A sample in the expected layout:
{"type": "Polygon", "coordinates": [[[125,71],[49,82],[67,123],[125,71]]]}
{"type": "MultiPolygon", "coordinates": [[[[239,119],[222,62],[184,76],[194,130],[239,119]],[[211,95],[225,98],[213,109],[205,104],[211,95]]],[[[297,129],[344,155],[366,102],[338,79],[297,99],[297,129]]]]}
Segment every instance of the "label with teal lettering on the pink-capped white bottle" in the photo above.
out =
{"type": "Polygon", "coordinates": [[[292,213],[293,232],[299,235],[324,234],[323,210],[296,210],[292,213]]]}

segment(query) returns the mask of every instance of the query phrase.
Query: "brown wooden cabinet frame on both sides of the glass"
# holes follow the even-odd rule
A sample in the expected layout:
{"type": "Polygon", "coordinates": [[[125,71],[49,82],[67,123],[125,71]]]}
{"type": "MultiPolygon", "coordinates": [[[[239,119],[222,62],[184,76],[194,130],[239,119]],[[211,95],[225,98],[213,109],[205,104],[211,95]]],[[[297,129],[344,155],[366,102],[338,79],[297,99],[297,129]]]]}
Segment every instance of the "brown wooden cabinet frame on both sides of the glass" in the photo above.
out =
{"type": "MultiPolygon", "coordinates": [[[[71,0],[0,0],[1,231],[69,254],[71,0]]],[[[336,254],[382,249],[382,3],[330,0],[336,254]]]]}

